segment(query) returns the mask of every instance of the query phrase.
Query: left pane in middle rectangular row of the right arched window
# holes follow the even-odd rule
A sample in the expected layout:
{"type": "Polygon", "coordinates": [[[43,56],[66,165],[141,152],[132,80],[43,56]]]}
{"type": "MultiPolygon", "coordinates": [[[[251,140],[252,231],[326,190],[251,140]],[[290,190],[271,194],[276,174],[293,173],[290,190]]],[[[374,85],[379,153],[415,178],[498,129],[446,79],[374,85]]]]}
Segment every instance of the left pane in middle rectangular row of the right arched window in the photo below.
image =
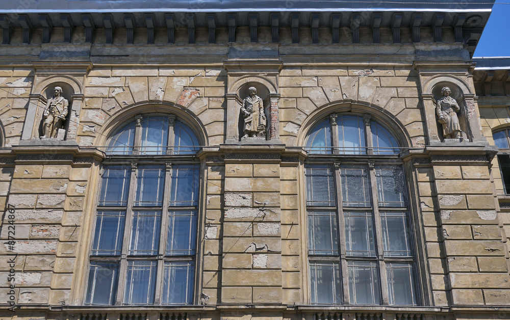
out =
{"type": "Polygon", "coordinates": [[[336,211],[308,211],[309,254],[338,255],[336,211]]]}

